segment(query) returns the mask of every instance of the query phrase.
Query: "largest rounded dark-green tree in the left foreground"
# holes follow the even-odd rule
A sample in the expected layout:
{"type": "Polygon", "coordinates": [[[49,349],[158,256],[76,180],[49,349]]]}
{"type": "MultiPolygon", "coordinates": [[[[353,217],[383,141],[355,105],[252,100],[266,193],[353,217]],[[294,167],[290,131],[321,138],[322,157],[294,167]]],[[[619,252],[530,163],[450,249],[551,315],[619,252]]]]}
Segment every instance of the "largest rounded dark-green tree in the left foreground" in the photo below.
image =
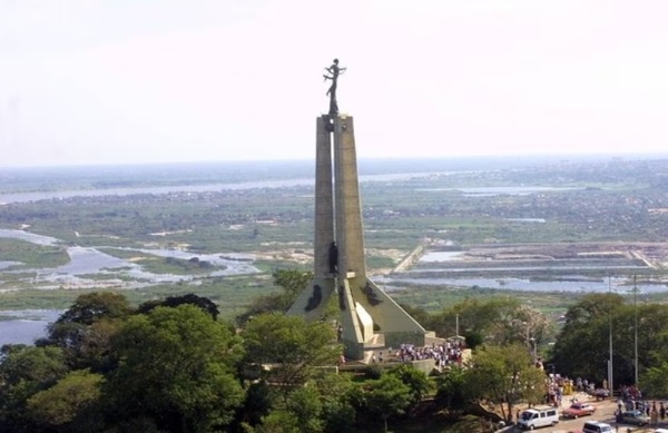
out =
{"type": "Polygon", "coordinates": [[[235,376],[243,347],[229,328],[193,305],[128,318],[114,338],[118,367],[104,393],[116,420],[153,419],[160,429],[222,429],[243,402],[235,376]]]}

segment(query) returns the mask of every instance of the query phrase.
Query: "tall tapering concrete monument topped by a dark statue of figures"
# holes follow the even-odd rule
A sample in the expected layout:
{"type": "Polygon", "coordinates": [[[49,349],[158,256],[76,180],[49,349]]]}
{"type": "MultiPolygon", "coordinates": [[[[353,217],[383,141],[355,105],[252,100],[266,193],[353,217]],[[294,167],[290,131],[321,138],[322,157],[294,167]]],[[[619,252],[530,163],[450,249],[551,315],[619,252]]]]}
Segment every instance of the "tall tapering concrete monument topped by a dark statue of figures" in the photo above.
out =
{"type": "Polygon", "coordinates": [[[425,345],[428,332],[366,274],[353,117],[338,112],[336,88],[345,68],[325,68],[330,111],[316,118],[314,278],[288,314],[315,321],[332,295],[341,309],[348,358],[367,351],[425,345]]]}

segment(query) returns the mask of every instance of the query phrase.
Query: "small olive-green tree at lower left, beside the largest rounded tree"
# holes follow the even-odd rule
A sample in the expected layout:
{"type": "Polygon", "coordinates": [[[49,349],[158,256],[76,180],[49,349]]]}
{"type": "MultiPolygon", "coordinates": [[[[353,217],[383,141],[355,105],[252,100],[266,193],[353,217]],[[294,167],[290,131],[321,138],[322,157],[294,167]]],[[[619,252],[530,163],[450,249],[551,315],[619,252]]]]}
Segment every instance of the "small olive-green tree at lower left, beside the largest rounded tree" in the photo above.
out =
{"type": "Polygon", "coordinates": [[[37,424],[63,432],[91,431],[92,409],[100,398],[101,381],[101,375],[88,371],[70,372],[56,385],[28,400],[28,415],[37,424]]]}

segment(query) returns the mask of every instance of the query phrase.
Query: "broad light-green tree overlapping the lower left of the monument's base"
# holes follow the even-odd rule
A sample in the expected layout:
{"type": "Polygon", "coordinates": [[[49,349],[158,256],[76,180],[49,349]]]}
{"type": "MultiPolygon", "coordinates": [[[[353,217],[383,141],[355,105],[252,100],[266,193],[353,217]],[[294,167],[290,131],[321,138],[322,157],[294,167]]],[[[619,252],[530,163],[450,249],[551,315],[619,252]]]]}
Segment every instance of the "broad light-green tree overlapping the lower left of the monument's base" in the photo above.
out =
{"type": "Polygon", "coordinates": [[[332,326],[285,314],[253,317],[242,336],[246,362],[271,365],[264,372],[266,380],[285,392],[303,385],[314,367],[334,365],[341,354],[341,347],[332,343],[332,326]]]}

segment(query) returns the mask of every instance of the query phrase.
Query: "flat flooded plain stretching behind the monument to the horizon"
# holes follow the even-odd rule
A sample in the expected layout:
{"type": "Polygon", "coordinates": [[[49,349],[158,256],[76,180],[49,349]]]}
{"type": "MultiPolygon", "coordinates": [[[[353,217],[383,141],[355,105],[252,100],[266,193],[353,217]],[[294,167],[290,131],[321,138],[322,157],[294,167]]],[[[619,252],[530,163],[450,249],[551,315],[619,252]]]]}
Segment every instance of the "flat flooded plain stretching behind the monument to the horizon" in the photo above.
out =
{"type": "MultiPolygon", "coordinates": [[[[19,314],[2,318],[39,322],[20,312],[61,311],[96,289],[132,302],[195,292],[234,315],[272,289],[273,269],[311,269],[313,169],[0,170],[0,312],[19,314]]],[[[361,161],[367,267],[428,309],[446,302],[431,294],[452,291],[660,299],[666,174],[658,157],[361,161]]]]}

